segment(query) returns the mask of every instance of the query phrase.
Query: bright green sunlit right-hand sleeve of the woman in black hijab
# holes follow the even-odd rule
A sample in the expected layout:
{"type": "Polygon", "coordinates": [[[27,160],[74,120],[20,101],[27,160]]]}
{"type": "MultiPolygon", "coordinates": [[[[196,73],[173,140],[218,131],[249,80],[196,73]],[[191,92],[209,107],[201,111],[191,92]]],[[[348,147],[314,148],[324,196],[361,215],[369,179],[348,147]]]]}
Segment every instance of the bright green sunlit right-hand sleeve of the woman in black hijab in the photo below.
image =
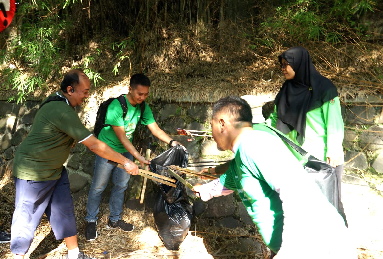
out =
{"type": "Polygon", "coordinates": [[[344,124],[339,97],[323,103],[322,110],[327,130],[326,157],[338,157],[343,152],[342,142],[344,137],[344,124]]]}

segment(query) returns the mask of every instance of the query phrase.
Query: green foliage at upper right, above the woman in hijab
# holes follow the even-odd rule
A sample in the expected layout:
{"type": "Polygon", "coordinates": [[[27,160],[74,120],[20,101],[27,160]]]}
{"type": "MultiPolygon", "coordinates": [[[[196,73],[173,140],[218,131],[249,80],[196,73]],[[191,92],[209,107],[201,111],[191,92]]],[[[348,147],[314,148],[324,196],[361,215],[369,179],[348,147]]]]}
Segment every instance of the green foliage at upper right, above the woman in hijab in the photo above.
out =
{"type": "Polygon", "coordinates": [[[259,33],[252,39],[258,45],[273,47],[274,39],[306,43],[325,41],[336,44],[365,35],[359,25],[360,15],[374,11],[376,0],[285,0],[275,8],[274,17],[260,23],[259,33]]]}

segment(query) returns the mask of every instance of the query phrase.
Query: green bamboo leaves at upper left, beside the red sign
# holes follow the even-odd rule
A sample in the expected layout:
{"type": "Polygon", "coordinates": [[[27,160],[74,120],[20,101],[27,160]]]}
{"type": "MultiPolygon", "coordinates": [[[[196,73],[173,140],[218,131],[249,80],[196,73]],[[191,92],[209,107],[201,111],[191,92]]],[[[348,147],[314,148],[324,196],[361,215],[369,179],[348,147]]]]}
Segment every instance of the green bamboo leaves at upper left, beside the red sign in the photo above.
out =
{"type": "MultiPolygon", "coordinates": [[[[8,38],[7,48],[0,52],[2,87],[16,91],[8,101],[23,102],[26,95],[61,76],[62,52],[70,48],[65,32],[73,29],[63,9],[76,3],[82,0],[23,1],[17,5],[17,34],[8,38]]],[[[97,85],[103,79],[90,67],[93,60],[87,56],[77,67],[97,85]]]]}

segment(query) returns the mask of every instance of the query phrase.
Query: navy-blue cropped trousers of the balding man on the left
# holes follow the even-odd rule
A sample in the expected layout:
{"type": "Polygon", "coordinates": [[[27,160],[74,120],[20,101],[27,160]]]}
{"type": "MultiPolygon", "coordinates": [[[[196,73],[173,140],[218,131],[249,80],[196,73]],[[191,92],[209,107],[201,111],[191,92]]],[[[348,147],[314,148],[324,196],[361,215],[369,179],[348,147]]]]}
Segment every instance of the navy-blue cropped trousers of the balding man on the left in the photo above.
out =
{"type": "Polygon", "coordinates": [[[32,244],[44,212],[56,239],[77,234],[67,170],[60,179],[50,181],[23,180],[15,177],[16,199],[11,229],[11,251],[26,254],[32,244]]]}

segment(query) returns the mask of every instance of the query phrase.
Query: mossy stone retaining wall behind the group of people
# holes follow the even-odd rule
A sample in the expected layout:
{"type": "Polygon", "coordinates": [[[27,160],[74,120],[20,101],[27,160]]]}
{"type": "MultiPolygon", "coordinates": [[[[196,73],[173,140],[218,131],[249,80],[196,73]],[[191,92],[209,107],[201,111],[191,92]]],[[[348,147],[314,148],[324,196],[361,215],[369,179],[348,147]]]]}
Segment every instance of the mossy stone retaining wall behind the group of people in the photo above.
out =
{"type": "MultiPolygon", "coordinates": [[[[345,123],[345,169],[351,173],[372,171],[383,173],[383,115],[381,97],[366,97],[354,100],[345,100],[347,105],[342,105],[342,115],[345,123]],[[368,103],[368,105],[366,105],[368,103]],[[373,106],[372,104],[376,105],[373,106]]],[[[39,102],[28,101],[16,105],[0,101],[0,174],[1,177],[11,177],[12,161],[19,144],[26,138],[31,129],[34,116],[38,110],[39,102]]],[[[95,101],[83,105],[78,112],[84,124],[92,130],[92,122],[97,108],[95,101]]],[[[188,167],[200,170],[203,167],[216,166],[232,158],[228,151],[218,151],[216,143],[210,137],[180,136],[176,128],[189,130],[210,131],[211,105],[190,103],[161,103],[151,104],[154,116],[160,128],[165,130],[172,138],[180,141],[189,151],[188,167]]],[[[273,109],[272,103],[264,106],[264,116],[268,116],[273,109]]],[[[143,141],[137,142],[138,150],[146,150],[148,136],[147,128],[142,126],[137,138],[143,141]]],[[[151,139],[154,155],[160,154],[167,149],[167,144],[158,139],[151,139]]],[[[75,199],[80,199],[88,192],[93,175],[94,154],[86,146],[76,144],[71,150],[70,156],[65,163],[69,173],[70,190],[75,199]]],[[[191,184],[203,182],[201,179],[189,178],[191,184]]],[[[139,185],[139,177],[131,177],[127,192],[128,207],[137,207],[135,199],[139,185]]],[[[104,200],[108,199],[110,186],[104,193],[104,200]]],[[[155,193],[155,185],[148,181],[146,192],[146,207],[152,208],[155,193]]],[[[190,200],[196,210],[196,214],[206,218],[205,223],[211,225],[237,227],[244,224],[252,224],[242,202],[236,194],[226,197],[214,198],[209,202],[201,202],[188,190],[190,200]]],[[[83,199],[85,200],[85,199],[83,199]]]]}

